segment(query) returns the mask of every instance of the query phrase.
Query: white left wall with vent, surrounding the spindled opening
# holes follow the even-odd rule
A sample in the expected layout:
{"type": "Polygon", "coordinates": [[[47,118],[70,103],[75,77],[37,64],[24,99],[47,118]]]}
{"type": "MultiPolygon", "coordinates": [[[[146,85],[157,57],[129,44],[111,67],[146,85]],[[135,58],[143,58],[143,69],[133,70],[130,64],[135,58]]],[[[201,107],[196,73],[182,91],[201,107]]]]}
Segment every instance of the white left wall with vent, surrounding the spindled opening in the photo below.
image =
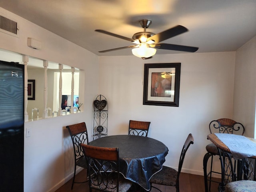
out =
{"type": "Polygon", "coordinates": [[[31,137],[24,138],[24,191],[55,191],[74,171],[66,126],[84,121],[91,132],[92,103],[98,94],[98,79],[94,77],[99,68],[98,56],[2,8],[0,13],[20,25],[19,38],[0,32],[0,48],[84,70],[80,75],[84,93],[79,90],[84,112],[25,123],[25,131],[31,128],[31,137]],[[42,50],[29,48],[28,37],[40,40],[42,50]]]}

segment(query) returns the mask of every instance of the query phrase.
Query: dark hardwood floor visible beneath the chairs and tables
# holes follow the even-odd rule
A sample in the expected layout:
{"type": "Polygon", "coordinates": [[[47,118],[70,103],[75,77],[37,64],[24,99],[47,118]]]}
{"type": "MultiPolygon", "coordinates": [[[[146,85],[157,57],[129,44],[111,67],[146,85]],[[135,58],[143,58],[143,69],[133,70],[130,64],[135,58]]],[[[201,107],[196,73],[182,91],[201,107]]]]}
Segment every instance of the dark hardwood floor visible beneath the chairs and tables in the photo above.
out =
{"type": "MultiPolygon", "coordinates": [[[[83,181],[86,178],[86,170],[82,170],[76,175],[76,181],[83,181]]],[[[74,184],[71,190],[72,179],[61,186],[56,192],[89,192],[88,182],[74,184]]],[[[154,185],[162,192],[176,192],[175,187],[154,185]]],[[[152,192],[158,190],[152,188],[152,192]]],[[[139,191],[138,191],[139,192],[139,191]]],[[[187,173],[180,174],[180,192],[204,192],[204,176],[187,173]]],[[[212,182],[211,192],[218,192],[218,183],[212,182]]]]}

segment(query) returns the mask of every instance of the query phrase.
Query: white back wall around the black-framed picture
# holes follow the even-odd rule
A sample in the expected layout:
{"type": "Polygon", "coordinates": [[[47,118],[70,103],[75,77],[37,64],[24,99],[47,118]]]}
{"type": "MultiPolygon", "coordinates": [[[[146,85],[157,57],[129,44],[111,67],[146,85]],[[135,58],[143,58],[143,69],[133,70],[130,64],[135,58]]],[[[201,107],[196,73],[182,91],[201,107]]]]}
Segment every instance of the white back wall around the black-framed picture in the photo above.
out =
{"type": "Polygon", "coordinates": [[[108,100],[108,135],[127,134],[129,120],[150,121],[148,136],[169,149],[166,166],[177,167],[189,133],[183,171],[203,175],[211,120],[232,118],[235,52],[100,57],[100,94],[108,100]],[[143,105],[144,63],[181,63],[180,106],[143,105]]]}

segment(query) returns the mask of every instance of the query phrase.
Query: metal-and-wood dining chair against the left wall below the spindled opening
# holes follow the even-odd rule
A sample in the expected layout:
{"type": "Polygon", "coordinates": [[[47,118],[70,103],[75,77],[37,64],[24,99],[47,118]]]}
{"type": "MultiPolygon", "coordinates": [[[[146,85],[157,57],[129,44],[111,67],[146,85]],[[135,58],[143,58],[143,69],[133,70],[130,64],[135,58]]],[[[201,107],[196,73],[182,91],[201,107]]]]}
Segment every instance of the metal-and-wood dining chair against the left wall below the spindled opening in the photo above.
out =
{"type": "Polygon", "coordinates": [[[71,189],[73,189],[74,183],[88,182],[88,180],[86,180],[84,182],[75,182],[76,166],[80,166],[82,168],[87,169],[84,152],[79,144],[85,143],[88,145],[88,133],[87,133],[85,122],[74,124],[74,125],[69,125],[69,126],[66,126],[66,128],[68,129],[68,131],[70,133],[72,143],[73,143],[73,149],[74,149],[75,165],[74,165],[74,176],[73,176],[72,186],[71,186],[71,189]]]}

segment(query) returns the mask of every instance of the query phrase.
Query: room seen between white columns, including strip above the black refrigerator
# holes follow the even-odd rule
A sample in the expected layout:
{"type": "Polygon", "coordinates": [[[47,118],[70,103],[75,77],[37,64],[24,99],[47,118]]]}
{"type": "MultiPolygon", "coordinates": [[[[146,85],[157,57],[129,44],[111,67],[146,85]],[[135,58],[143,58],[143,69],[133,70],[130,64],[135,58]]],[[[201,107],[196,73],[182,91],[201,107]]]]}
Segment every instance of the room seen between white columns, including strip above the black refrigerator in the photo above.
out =
{"type": "MultiPolygon", "coordinates": [[[[8,62],[19,62],[23,64],[22,54],[0,49],[0,60],[8,62]]],[[[43,60],[29,57],[28,65],[28,79],[35,80],[35,100],[28,100],[27,112],[28,119],[32,120],[32,109],[38,108],[38,117],[42,118],[44,112],[44,66],[43,60]]],[[[51,110],[51,116],[56,116],[59,108],[59,76],[58,63],[48,61],[47,82],[48,82],[48,96],[47,106],[51,110]]],[[[62,95],[67,95],[67,106],[73,106],[75,97],[79,95],[79,69],[74,72],[74,98],[71,98],[71,82],[72,72],[70,66],[63,65],[62,70],[62,95]]],[[[67,109],[68,110],[68,109],[67,109]]],[[[70,109],[69,109],[70,112],[70,109]]],[[[67,114],[69,114],[67,112],[67,114]]],[[[47,113],[50,116],[49,112],[47,113]]]]}

